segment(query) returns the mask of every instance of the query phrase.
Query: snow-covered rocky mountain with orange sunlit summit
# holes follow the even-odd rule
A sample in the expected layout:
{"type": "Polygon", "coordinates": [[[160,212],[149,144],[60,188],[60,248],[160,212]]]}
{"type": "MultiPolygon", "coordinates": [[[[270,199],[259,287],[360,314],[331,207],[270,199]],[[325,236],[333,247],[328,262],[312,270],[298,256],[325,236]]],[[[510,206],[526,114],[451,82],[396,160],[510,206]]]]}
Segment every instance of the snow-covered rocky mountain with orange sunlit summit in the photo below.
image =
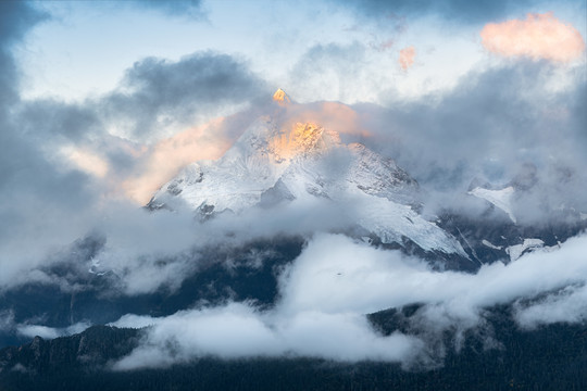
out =
{"type": "MultiPolygon", "coordinates": [[[[290,100],[278,90],[276,110],[290,100]]],[[[276,115],[278,116],[278,115],[276,115]]],[[[203,215],[320,198],[352,205],[357,224],[383,243],[467,257],[459,241],[419,211],[419,185],[392,160],[313,122],[258,118],[217,161],[200,161],[165,184],[148,207],[187,203],[203,215]]]]}

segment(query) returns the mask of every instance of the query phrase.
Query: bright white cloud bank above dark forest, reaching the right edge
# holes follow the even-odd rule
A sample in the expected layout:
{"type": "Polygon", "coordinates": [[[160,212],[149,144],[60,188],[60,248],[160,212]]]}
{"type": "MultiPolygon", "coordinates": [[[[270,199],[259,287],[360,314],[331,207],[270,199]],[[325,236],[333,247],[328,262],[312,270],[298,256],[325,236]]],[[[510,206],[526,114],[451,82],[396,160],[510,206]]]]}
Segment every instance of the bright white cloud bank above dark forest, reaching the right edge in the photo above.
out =
{"type": "Polygon", "coordinates": [[[585,289],[564,288],[587,283],[585,245],[587,237],[582,236],[560,249],[524,255],[509,265],[487,265],[469,275],[434,272],[397,251],[319,235],[282,274],[282,300],[275,308],[263,312],[252,303],[228,303],[162,318],[123,316],[113,325],[150,328],[139,348],[114,369],[164,367],[208,355],[430,365],[444,352],[430,343],[442,343],[438,338],[444,331],[462,333],[483,326],[484,310],[497,304],[519,301],[516,319],[525,328],[583,321],[585,289]],[[540,295],[529,305],[520,301],[540,295]],[[363,316],[413,303],[424,304],[413,326],[427,330],[425,338],[400,332],[383,337],[363,316]]]}

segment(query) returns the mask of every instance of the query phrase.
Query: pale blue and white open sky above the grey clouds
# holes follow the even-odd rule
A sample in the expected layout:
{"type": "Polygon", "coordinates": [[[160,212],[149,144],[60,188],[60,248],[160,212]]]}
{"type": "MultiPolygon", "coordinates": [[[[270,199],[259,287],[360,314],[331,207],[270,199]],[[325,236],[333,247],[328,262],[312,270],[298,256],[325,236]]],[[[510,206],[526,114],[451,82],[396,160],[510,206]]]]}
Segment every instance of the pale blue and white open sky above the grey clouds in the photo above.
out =
{"type": "Polygon", "coordinates": [[[27,35],[17,58],[26,75],[26,98],[79,100],[111,91],[141,59],[177,61],[215,51],[246,61],[272,87],[280,86],[300,102],[380,102],[386,90],[398,99],[421,97],[453,86],[473,67],[487,66],[479,45],[486,23],[554,12],[585,36],[580,1],[534,3],[525,10],[516,2],[483,2],[458,16],[450,15],[452,10],[435,10],[433,2],[401,14],[391,2],[375,16],[377,2],[186,2],[172,5],[177,9],[173,12],[112,1],[39,2],[52,17],[27,35]],[[487,9],[495,17],[484,21],[482,14],[491,14],[487,9]],[[398,60],[409,48],[417,56],[412,54],[407,73],[398,60]]]}

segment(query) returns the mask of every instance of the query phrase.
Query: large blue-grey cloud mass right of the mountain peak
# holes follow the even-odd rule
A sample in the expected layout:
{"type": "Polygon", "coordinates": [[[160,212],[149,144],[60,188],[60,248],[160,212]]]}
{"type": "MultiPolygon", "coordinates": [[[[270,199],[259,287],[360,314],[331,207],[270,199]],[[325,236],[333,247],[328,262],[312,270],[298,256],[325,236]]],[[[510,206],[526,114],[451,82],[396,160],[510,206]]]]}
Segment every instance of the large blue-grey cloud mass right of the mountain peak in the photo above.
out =
{"type": "Polygon", "coordinates": [[[521,61],[473,71],[447,93],[352,109],[373,135],[362,141],[394,156],[429,191],[429,205],[451,205],[455,189],[465,193],[475,178],[511,182],[530,165],[538,182],[519,194],[516,209],[522,224],[545,222],[562,204],[587,210],[580,152],[587,118],[578,110],[587,80],[584,74],[573,80],[559,79],[555,64],[521,61]]]}

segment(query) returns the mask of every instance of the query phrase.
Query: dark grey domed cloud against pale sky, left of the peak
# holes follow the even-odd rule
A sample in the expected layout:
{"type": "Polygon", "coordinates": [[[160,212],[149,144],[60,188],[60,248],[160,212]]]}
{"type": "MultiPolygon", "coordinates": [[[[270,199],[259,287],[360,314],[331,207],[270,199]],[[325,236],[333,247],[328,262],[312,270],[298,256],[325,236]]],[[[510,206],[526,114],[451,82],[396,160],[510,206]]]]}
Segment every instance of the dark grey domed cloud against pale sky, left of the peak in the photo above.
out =
{"type": "Polygon", "coordinates": [[[267,94],[264,83],[233,56],[196,53],[178,62],[148,58],[128,70],[121,90],[97,102],[110,121],[128,122],[143,136],[172,123],[192,125],[198,116],[267,94]]]}

